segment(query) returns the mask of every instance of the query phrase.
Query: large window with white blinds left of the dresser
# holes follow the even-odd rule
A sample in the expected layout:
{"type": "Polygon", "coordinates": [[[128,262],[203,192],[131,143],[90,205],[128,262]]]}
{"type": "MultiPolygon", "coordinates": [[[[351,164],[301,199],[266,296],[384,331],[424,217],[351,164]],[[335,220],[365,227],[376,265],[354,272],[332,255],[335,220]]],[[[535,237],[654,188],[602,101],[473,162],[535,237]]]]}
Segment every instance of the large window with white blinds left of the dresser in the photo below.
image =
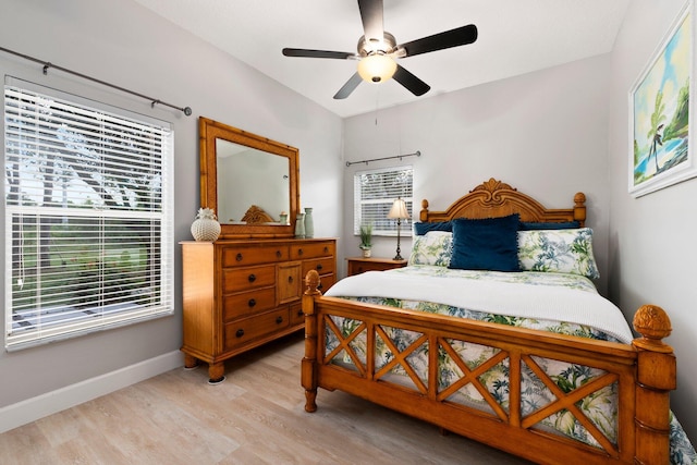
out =
{"type": "Polygon", "coordinates": [[[4,87],[5,347],[171,315],[169,124],[35,88],[4,87]]]}

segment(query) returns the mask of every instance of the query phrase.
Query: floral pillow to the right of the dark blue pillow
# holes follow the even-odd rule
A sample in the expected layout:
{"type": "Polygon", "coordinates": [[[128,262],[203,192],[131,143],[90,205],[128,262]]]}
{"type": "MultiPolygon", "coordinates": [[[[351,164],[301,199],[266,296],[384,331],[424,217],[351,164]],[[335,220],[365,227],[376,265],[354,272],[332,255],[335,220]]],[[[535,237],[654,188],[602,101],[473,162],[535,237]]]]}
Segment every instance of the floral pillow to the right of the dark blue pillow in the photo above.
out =
{"type": "Polygon", "coordinates": [[[518,231],[518,261],[524,271],[600,278],[592,255],[592,230],[518,231]]]}

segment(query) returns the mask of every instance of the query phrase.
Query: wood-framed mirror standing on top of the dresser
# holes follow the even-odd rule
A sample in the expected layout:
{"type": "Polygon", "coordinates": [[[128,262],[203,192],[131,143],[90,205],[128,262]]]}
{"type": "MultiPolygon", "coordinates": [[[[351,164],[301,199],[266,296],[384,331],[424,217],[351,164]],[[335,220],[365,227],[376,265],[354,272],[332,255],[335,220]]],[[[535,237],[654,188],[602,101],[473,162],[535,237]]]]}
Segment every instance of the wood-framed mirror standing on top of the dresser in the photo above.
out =
{"type": "Polygon", "coordinates": [[[292,237],[297,149],[203,117],[199,135],[201,207],[216,211],[220,238],[292,237]]]}

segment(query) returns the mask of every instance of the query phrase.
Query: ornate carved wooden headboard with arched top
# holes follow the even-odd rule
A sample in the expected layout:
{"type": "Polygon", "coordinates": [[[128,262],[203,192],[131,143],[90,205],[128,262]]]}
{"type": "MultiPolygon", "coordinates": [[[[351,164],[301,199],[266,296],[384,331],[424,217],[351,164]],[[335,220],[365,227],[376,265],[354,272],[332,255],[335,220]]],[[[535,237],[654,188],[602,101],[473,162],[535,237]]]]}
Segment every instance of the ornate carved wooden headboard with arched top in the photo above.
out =
{"type": "Polygon", "coordinates": [[[428,200],[421,200],[419,219],[423,222],[450,221],[455,218],[496,218],[519,213],[521,221],[565,222],[586,221],[586,195],[582,192],[574,196],[574,207],[568,209],[548,209],[533,197],[517,192],[501,181],[491,178],[479,184],[469,194],[461,197],[445,211],[429,211],[428,200]]]}

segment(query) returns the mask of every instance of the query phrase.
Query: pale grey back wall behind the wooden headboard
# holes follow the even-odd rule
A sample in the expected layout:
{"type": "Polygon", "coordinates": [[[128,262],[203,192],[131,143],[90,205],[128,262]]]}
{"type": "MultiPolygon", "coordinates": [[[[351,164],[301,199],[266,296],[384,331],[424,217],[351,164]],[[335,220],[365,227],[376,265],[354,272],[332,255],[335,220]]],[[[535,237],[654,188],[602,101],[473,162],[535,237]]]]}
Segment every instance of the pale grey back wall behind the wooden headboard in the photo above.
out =
{"type": "MultiPolygon", "coordinates": [[[[416,216],[420,200],[444,210],[489,178],[511,184],[548,208],[571,208],[586,193],[588,225],[606,289],[608,276],[607,100],[609,57],[602,56],[416,103],[345,120],[347,161],[412,154],[345,169],[344,253],[358,254],[352,235],[353,174],[386,166],[414,166],[416,216]]],[[[402,255],[411,250],[402,241],[402,255]]],[[[376,237],[374,256],[394,256],[394,237],[376,237]]]]}

